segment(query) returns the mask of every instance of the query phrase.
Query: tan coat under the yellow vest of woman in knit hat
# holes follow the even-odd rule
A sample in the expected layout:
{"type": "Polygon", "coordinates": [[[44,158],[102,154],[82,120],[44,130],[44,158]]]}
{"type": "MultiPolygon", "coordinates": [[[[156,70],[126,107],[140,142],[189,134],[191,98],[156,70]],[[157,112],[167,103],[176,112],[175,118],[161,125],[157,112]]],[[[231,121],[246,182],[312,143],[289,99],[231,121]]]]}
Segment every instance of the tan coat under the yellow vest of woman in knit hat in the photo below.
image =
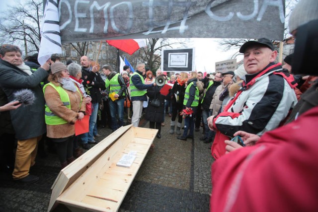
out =
{"type": "MultiPolygon", "coordinates": [[[[56,86],[61,86],[60,83],[54,83],[56,86]]],[[[72,92],[65,90],[70,97],[71,110],[63,105],[59,93],[50,85],[45,88],[44,98],[46,104],[51,111],[57,116],[63,118],[68,123],[62,125],[46,125],[47,137],[49,138],[66,138],[75,134],[74,124],[78,120],[79,111],[85,111],[85,103],[80,102],[80,95],[78,91],[72,92]]],[[[83,96],[82,96],[83,98],[83,96]]]]}

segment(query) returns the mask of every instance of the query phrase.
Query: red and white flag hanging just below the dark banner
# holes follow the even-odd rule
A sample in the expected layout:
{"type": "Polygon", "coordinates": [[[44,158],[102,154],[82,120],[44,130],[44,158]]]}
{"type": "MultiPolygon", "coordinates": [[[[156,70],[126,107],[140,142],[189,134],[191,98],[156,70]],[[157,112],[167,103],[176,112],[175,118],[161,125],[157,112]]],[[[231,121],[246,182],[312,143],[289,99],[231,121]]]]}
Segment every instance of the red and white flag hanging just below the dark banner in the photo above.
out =
{"type": "Polygon", "coordinates": [[[128,40],[106,40],[106,42],[124,51],[130,55],[136,52],[138,49],[147,46],[145,39],[128,39],[128,40]]]}

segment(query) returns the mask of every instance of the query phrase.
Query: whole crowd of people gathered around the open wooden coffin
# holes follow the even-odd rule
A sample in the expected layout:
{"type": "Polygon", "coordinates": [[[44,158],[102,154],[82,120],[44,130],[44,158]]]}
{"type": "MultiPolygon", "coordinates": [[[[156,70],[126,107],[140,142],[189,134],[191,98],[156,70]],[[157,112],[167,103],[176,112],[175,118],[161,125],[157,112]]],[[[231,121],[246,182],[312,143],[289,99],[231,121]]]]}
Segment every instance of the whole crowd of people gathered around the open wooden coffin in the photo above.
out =
{"type": "MultiPolygon", "coordinates": [[[[291,34],[305,40],[310,33],[317,36],[317,31],[309,32],[317,28],[317,11],[317,1],[301,0],[290,18],[291,34]],[[312,12],[304,15],[306,9],[312,12]]],[[[296,41],[297,45],[301,44],[296,41]]],[[[317,43],[299,48],[317,54],[317,43]]],[[[29,170],[45,141],[54,145],[63,169],[82,149],[89,149],[89,143],[98,142],[97,113],[103,106],[101,116],[108,116],[113,132],[125,125],[125,112],[134,127],[139,127],[145,112],[149,127],[158,129],[158,139],[166,115],[169,134],[176,133],[178,140],[194,141],[194,131],[201,126],[202,136],[197,139],[213,142],[211,154],[216,159],[212,211],[272,211],[275,207],[315,211],[318,145],[310,136],[318,123],[318,74],[304,76],[312,74],[306,70],[294,74],[293,64],[302,60],[295,59],[298,52],[288,55],[283,66],[277,63],[277,51],[267,38],[247,41],[239,52],[244,55],[243,64],[235,71],[206,76],[177,72],[168,77],[160,69],[155,76],[142,62],[134,72],[129,66],[121,72],[109,65],[100,68],[87,56],[80,58],[80,65],[73,61],[65,65],[52,56],[40,66],[37,54],[22,60],[17,46],[2,45],[0,136],[6,144],[1,169],[10,167],[17,182],[36,182],[39,178],[29,170]],[[170,88],[163,93],[166,84],[170,88]],[[16,101],[15,92],[21,89],[33,92],[31,105],[16,101]],[[85,118],[88,132],[75,136],[75,123],[85,118]],[[299,135],[300,131],[304,133],[299,135]],[[230,141],[237,136],[246,147],[230,141]],[[299,186],[292,188],[290,183],[299,186]],[[257,190],[250,189],[255,185],[257,190]],[[275,194],[274,202],[269,192],[275,194]],[[293,201],[297,198],[301,201],[293,201]]]]}

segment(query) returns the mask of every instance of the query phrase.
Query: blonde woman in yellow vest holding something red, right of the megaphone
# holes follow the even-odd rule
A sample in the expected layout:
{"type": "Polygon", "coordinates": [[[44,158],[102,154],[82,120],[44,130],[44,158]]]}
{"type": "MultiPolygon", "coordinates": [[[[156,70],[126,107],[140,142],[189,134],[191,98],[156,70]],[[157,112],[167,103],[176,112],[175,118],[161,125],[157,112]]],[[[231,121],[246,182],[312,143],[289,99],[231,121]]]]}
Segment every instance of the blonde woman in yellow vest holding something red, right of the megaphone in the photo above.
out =
{"type": "Polygon", "coordinates": [[[199,105],[199,91],[203,91],[203,83],[198,81],[197,72],[192,71],[188,76],[188,82],[185,88],[184,100],[183,100],[183,112],[184,118],[184,131],[182,136],[178,136],[177,139],[186,141],[187,138],[194,141],[194,120],[193,117],[198,109],[199,105]],[[189,131],[189,134],[188,134],[189,131]]]}

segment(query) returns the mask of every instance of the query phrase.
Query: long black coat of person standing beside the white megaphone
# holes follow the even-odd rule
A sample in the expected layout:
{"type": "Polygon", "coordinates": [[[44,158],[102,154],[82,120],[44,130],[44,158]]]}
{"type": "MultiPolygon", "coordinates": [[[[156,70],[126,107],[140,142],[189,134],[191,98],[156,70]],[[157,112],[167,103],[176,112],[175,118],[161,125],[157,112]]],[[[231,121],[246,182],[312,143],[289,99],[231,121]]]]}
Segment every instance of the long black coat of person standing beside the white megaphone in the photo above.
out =
{"type": "MultiPolygon", "coordinates": [[[[162,86],[161,86],[162,87],[162,86]]],[[[164,121],[164,96],[160,94],[161,87],[155,86],[147,89],[147,96],[149,97],[148,107],[146,111],[145,119],[150,122],[159,122],[164,121]],[[159,99],[160,106],[155,107],[151,105],[151,101],[159,99]]]]}

